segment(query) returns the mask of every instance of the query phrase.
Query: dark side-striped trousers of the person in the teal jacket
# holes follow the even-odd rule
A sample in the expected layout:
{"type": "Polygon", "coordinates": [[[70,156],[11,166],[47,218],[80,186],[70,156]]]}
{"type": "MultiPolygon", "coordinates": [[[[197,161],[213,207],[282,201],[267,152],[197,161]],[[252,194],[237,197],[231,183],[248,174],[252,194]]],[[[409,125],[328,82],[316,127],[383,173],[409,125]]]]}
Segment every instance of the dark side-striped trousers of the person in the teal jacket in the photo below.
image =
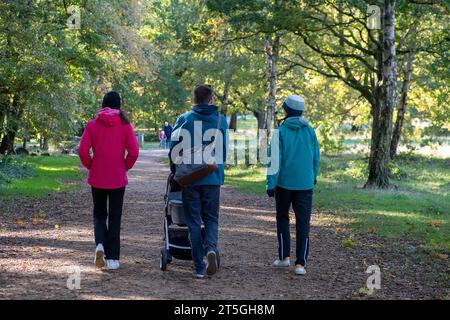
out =
{"type": "Polygon", "coordinates": [[[280,260],[290,257],[291,234],[289,209],[294,209],[296,220],[296,256],[295,264],[306,266],[309,253],[309,226],[312,210],[313,190],[287,190],[281,187],[275,189],[277,208],[277,238],[280,260]]]}

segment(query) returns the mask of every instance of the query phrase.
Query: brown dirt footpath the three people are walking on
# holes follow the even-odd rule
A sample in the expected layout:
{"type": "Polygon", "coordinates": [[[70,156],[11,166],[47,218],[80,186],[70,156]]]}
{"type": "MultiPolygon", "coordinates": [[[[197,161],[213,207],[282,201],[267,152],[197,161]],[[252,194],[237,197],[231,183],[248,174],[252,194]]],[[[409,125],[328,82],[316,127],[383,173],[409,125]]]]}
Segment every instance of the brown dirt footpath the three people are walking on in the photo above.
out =
{"type": "MultiPolygon", "coordinates": [[[[93,265],[92,200],[80,192],[40,200],[0,200],[0,299],[440,299],[448,297],[448,266],[418,260],[382,239],[358,238],[343,247],[345,226],[314,212],[306,276],[271,267],[276,258],[273,199],[222,189],[222,265],[212,278],[192,277],[192,262],[159,270],[163,245],[165,151],[142,151],[130,172],[122,223],[121,266],[93,265]],[[38,214],[40,213],[40,214],[38,214]],[[37,214],[37,215],[36,215],[37,214]],[[336,228],[344,230],[336,232],[336,228]],[[388,248],[389,246],[389,248],[388,248]],[[381,268],[381,289],[364,288],[370,265],[381,268]],[[67,280],[80,272],[80,289],[67,280]]],[[[293,230],[293,229],[292,229],[293,230]]],[[[295,238],[293,238],[295,240],[295,238]]],[[[294,241],[295,244],[295,241],[294,241]]],[[[294,248],[293,248],[294,249],[294,248]]]]}

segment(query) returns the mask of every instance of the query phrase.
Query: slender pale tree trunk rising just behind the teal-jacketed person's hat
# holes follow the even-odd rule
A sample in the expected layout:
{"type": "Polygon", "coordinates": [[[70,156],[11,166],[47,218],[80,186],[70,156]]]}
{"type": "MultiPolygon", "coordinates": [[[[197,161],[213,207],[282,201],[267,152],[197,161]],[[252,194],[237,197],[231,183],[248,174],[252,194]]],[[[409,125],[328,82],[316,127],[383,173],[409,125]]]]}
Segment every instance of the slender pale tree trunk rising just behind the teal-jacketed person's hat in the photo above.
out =
{"type": "Polygon", "coordinates": [[[277,67],[278,53],[280,49],[280,35],[274,36],[266,34],[266,74],[268,83],[267,111],[266,111],[266,129],[267,136],[270,136],[272,127],[276,128],[275,110],[277,97],[277,67]]]}

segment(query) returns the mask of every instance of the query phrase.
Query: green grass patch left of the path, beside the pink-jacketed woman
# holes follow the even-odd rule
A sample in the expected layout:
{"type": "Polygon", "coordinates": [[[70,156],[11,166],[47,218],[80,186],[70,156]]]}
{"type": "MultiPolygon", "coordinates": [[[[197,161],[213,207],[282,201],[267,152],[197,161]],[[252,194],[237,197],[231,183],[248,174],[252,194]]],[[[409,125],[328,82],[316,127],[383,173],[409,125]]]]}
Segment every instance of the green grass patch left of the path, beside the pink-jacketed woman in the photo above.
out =
{"type": "Polygon", "coordinates": [[[30,177],[11,179],[0,186],[0,197],[41,197],[48,193],[67,191],[82,178],[79,159],[74,156],[24,157],[18,161],[34,167],[30,177]]]}

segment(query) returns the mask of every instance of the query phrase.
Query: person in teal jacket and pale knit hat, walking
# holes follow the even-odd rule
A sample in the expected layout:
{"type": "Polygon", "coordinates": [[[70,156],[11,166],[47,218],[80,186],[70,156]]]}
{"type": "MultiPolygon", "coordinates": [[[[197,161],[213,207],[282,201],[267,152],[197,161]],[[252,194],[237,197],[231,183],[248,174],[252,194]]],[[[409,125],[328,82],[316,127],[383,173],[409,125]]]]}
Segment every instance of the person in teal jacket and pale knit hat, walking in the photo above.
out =
{"type": "Polygon", "coordinates": [[[292,207],[296,217],[295,273],[303,275],[309,253],[312,195],[319,173],[320,151],[314,129],[302,117],[305,101],[297,95],[283,102],[286,117],[274,132],[267,174],[267,194],[275,196],[277,211],[278,259],[275,267],[290,266],[290,223],[292,207]]]}

